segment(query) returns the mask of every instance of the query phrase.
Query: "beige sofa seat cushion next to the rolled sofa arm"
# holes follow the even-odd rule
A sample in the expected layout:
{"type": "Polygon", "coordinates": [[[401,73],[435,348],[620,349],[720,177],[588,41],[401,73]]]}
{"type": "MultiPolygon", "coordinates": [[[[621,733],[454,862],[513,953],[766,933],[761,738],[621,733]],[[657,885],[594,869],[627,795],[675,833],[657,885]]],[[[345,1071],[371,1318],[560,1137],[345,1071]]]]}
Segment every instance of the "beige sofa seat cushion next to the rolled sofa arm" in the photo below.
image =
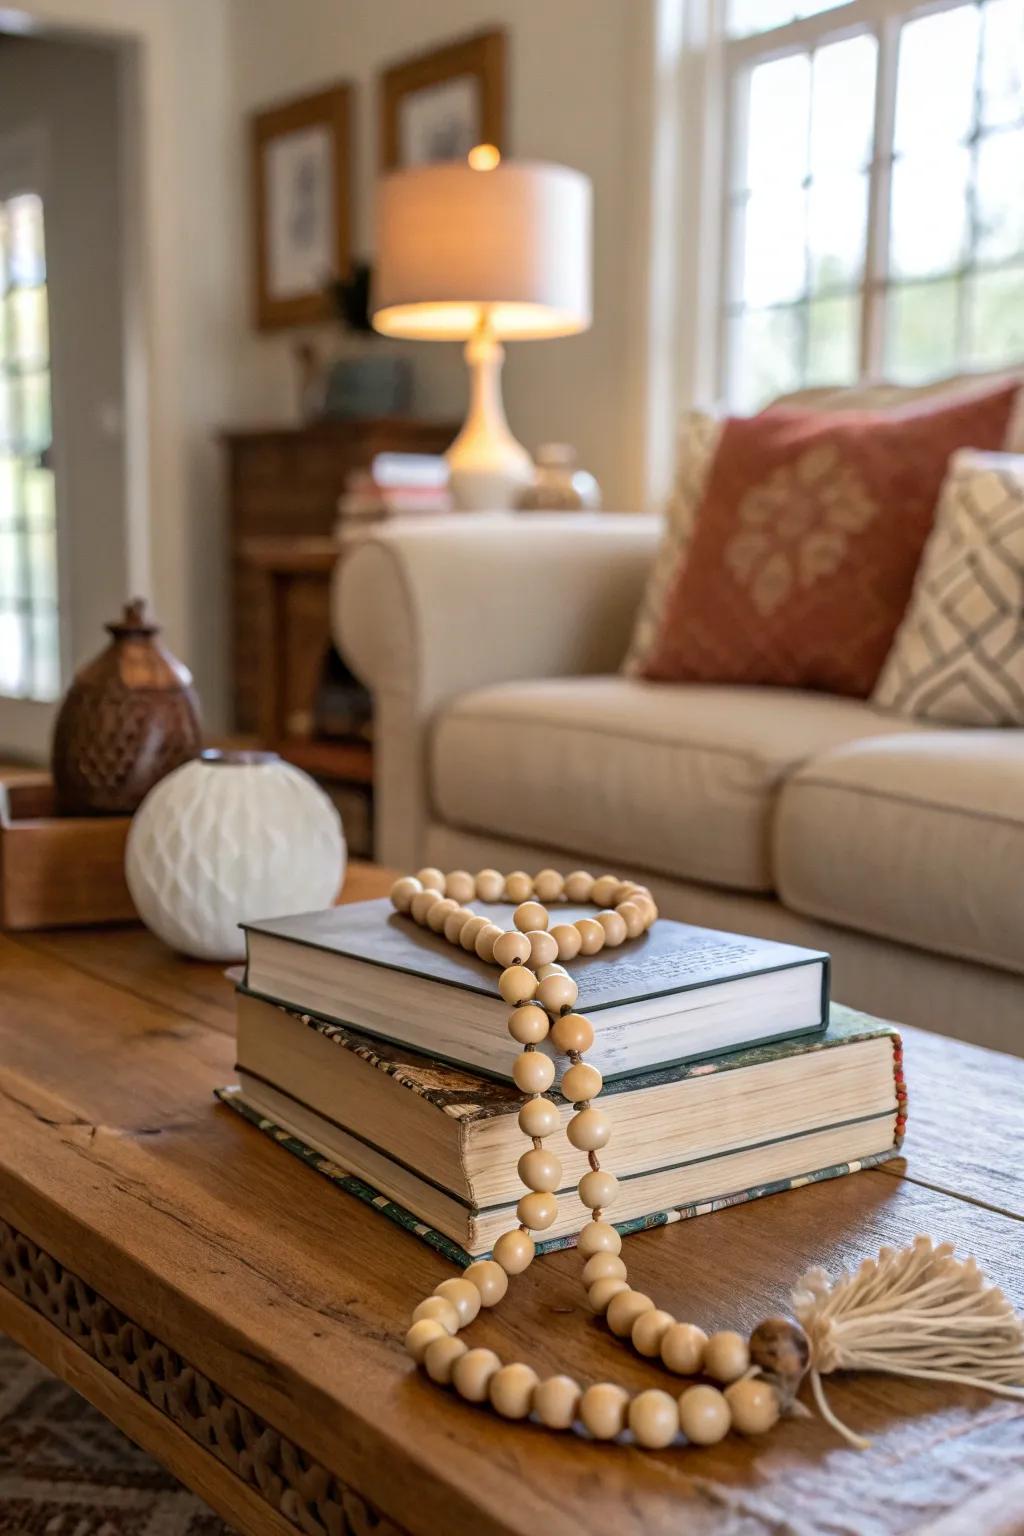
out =
{"type": "Polygon", "coordinates": [[[434,723],[431,791],[451,826],[611,865],[771,891],[780,782],[904,722],[785,688],[562,677],[464,694],[434,723]]]}

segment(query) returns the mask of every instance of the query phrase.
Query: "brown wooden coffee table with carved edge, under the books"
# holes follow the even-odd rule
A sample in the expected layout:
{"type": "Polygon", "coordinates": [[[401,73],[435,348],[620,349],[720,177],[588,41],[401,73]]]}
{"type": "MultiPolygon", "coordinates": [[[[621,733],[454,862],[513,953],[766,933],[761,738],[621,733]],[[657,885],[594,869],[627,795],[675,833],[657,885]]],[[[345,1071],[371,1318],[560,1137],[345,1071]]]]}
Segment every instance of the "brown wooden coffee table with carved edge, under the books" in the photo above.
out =
{"type": "MultiPolygon", "coordinates": [[[[347,895],[378,895],[356,868],[347,895]]],[[[906,1160],[629,1238],[679,1316],[749,1327],[917,1232],[1024,1299],[1024,1061],[906,1032],[906,1160]]],[[[511,1425],[421,1379],[410,1306],[448,1273],[235,1115],[216,966],[138,928],[0,937],[0,1329],[253,1533],[703,1536],[1024,1530],[1024,1410],[840,1379],[874,1436],[817,1419],[657,1455],[511,1425]]],[[[474,1342],[583,1381],[659,1373],[588,1316],[577,1260],[534,1264],[474,1342]]]]}

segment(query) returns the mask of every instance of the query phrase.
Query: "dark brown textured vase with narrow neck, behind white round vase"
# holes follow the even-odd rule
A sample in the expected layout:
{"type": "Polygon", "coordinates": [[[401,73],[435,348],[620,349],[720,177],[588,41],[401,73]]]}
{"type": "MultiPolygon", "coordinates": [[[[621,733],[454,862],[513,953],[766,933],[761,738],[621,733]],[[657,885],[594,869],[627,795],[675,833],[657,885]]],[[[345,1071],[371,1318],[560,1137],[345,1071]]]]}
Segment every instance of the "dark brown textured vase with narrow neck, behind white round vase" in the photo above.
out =
{"type": "Polygon", "coordinates": [[[69,816],[130,816],[200,751],[192,673],[161,645],[146,602],[106,628],[111,644],[75,673],[54,730],[54,783],[69,816]]]}

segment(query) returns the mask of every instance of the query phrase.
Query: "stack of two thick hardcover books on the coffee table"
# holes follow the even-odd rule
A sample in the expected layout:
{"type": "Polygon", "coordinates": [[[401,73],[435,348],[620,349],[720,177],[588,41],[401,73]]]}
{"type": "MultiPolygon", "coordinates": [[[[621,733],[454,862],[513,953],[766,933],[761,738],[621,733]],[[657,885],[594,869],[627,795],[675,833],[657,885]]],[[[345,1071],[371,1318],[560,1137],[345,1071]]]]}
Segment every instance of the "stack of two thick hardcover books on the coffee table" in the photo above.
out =
{"type": "MultiPolygon", "coordinates": [[[[511,911],[494,908],[494,922],[510,926],[511,911]]],[[[223,1101],[453,1258],[490,1252],[524,1193],[516,1048],[493,966],[388,902],[250,925],[247,949],[238,1084],[223,1101]]],[[[605,1077],[623,1230],[898,1152],[900,1037],[829,1008],[827,955],[660,920],[571,969],[596,1029],[586,1060],[605,1077]]],[[[540,1249],[588,1220],[576,1193],[586,1155],[556,1143],[565,1187],[540,1249]]]]}

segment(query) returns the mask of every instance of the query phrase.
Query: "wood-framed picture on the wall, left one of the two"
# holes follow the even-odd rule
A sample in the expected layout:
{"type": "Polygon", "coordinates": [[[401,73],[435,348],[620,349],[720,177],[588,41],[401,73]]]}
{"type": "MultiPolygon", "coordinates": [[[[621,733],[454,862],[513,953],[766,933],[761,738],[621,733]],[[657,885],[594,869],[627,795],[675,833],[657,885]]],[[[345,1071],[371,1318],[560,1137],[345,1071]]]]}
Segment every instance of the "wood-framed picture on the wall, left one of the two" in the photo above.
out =
{"type": "Polygon", "coordinates": [[[261,330],[327,319],[327,284],[350,264],[348,86],[252,118],[255,321],[261,330]]]}

